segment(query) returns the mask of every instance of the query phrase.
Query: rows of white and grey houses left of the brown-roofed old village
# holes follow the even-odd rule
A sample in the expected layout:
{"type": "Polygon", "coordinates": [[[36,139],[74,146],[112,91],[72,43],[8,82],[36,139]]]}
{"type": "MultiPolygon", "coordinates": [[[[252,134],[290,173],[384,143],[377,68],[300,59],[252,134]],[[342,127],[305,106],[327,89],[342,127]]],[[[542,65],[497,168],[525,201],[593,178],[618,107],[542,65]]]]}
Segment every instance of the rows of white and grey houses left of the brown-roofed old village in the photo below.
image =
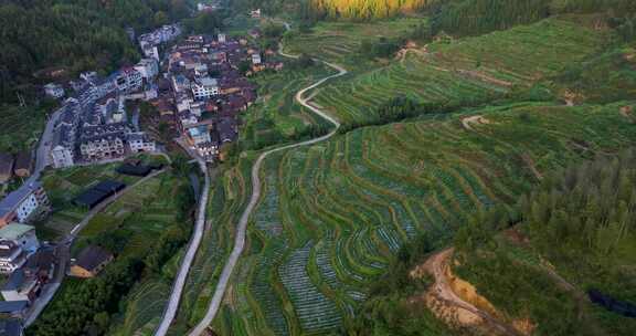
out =
{"type": "Polygon", "coordinates": [[[55,125],[50,153],[53,167],[155,151],[155,141],[131,123],[126,101],[156,98],[158,73],[155,59],[142,59],[108,77],[87,72],[72,82],[76,95],[64,102],[55,125]]]}

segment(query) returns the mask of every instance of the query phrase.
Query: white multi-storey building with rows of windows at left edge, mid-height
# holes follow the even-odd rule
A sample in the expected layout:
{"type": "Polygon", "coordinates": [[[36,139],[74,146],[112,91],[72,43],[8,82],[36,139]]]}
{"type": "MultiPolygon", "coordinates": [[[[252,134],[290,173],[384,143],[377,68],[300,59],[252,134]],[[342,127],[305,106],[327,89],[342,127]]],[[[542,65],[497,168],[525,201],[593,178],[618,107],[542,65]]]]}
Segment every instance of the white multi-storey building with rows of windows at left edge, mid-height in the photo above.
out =
{"type": "Polygon", "coordinates": [[[49,198],[39,181],[29,181],[0,201],[0,228],[12,221],[26,222],[42,207],[49,206],[49,198]]]}

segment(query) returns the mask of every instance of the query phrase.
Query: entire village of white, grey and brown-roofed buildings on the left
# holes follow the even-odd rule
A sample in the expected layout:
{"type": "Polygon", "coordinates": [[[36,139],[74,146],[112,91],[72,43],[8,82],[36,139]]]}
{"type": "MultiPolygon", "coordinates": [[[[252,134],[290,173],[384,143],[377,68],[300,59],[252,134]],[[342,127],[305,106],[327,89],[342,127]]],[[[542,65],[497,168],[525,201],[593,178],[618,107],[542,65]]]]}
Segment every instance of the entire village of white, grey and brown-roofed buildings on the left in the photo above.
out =
{"type": "MultiPolygon", "coordinates": [[[[15,156],[0,153],[0,183],[21,181],[0,199],[2,316],[32,323],[64,275],[93,277],[114,258],[93,244],[72,259],[74,234],[56,243],[38,239],[33,223],[52,210],[40,181],[44,169],[121,161],[119,174],[147,176],[162,167],[139,165],[131,157],[167,156],[170,145],[209,164],[222,160],[222,146],[239,138],[240,114],[256,101],[256,87],[246,76],[283,69],[282,62],[267,61],[272,51],[256,46],[259,35],[253,29],[248,36],[183,36],[179,24],[165,25],[137,38],[144,56],[137,64],[108,76],[84,72],[43,86],[61,107],[51,114],[38,148],[15,156]],[[153,107],[152,116],[140,116],[141,102],[153,107]],[[145,132],[159,125],[168,126],[171,144],[145,132]]],[[[126,187],[95,181],[73,203],[95,209],[126,187]]]]}

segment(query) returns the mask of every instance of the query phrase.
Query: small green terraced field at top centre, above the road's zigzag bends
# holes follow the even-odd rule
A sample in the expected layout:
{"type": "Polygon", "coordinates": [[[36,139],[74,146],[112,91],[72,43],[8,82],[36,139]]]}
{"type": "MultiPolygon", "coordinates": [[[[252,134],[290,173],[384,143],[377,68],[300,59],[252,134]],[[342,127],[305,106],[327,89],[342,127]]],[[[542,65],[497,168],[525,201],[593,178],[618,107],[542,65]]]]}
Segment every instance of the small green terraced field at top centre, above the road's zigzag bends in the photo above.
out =
{"type": "Polygon", "coordinates": [[[380,38],[399,38],[409,34],[422,22],[420,18],[404,18],[369,23],[320,21],[309,33],[293,31],[284,40],[285,52],[306,53],[328,62],[347,64],[347,69],[360,66],[353,56],[362,41],[380,38]]]}

